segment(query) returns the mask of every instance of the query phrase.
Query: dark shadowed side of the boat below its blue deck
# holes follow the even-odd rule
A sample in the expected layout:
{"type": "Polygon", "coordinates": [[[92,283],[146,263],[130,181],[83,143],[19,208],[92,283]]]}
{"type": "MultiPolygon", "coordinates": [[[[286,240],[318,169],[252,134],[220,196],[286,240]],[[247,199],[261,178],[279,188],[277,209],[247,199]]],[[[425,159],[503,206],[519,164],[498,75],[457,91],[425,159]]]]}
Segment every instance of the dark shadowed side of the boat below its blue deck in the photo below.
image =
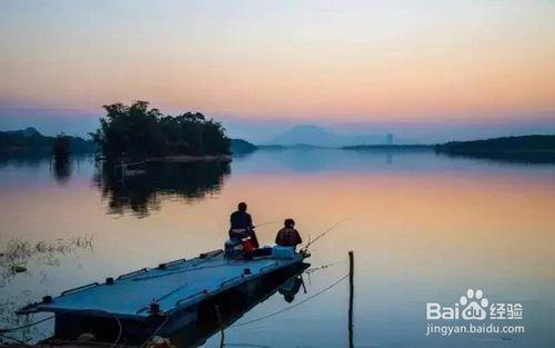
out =
{"type": "Polygon", "coordinates": [[[184,302],[169,312],[147,317],[118,317],[103,311],[75,310],[56,314],[56,340],[74,340],[82,334],[92,334],[97,341],[140,345],[152,335],[175,337],[179,347],[188,347],[192,341],[202,340],[220,329],[215,308],[226,316],[225,321],[235,321],[244,311],[274,294],[285,280],[309,267],[302,258],[281,267],[232,284],[222,291],[211,294],[198,301],[184,302]],[[262,294],[262,295],[261,295],[262,294]],[[225,315],[225,314],[232,315],[225,315]],[[215,325],[214,325],[215,322],[215,325]],[[211,326],[212,325],[212,326],[211,326]],[[208,326],[205,329],[200,327],[208,326]],[[204,335],[200,335],[204,332],[204,335]],[[200,335],[200,337],[199,337],[200,335]]]}

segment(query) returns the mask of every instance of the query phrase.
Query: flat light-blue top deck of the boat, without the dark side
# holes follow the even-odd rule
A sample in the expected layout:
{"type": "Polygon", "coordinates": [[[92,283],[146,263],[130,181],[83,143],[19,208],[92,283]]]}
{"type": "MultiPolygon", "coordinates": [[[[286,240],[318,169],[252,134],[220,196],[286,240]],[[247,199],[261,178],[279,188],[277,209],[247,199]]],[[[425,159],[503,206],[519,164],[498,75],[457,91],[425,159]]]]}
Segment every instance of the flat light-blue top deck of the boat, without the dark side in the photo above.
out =
{"type": "MultiPolygon", "coordinates": [[[[268,272],[301,262],[303,256],[292,259],[272,257],[235,260],[223,257],[221,250],[201,255],[191,260],[161,264],[157,268],[141,269],[103,284],[91,284],[46,298],[20,309],[20,314],[97,312],[120,318],[147,318],[151,304],[170,312],[190,307],[208,297],[236,287],[268,272]]],[[[158,308],[157,308],[158,310],[158,308]]]]}

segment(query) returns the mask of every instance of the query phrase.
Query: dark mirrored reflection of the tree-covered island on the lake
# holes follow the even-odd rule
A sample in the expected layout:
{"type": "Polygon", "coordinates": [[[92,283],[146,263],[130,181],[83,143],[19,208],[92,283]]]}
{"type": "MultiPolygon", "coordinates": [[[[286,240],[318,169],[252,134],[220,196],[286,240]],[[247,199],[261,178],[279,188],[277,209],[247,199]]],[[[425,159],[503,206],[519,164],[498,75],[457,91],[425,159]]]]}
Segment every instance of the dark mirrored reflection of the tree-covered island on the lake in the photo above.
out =
{"type": "Polygon", "coordinates": [[[163,196],[193,201],[218,192],[229,173],[229,163],[219,161],[147,162],[124,170],[101,162],[94,182],[108,199],[109,213],[131,210],[145,217],[150,210],[160,208],[163,196]]]}

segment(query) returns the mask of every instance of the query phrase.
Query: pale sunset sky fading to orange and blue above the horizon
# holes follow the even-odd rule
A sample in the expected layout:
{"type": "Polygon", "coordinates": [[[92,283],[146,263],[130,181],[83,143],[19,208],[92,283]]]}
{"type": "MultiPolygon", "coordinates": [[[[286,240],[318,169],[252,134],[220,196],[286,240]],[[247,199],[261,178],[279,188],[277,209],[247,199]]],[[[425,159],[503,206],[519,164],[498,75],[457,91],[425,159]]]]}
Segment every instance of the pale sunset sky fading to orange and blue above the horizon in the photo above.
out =
{"type": "Polygon", "coordinates": [[[0,47],[0,129],[83,133],[142,99],[253,139],[555,132],[554,1],[4,0],[0,47]]]}

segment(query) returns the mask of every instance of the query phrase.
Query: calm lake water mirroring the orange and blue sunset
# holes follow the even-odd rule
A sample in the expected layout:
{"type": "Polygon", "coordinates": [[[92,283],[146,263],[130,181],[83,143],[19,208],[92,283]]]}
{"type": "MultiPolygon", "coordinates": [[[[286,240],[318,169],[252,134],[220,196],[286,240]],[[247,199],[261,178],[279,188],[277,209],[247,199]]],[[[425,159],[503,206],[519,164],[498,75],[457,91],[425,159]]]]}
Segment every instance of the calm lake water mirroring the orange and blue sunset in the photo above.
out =
{"type": "MultiPolygon", "coordinates": [[[[306,294],[291,304],[275,294],[238,322],[327,287],[347,274],[354,250],[356,347],[555,347],[555,166],[433,151],[285,150],[141,170],[122,177],[88,158],[70,168],[0,162],[0,249],[44,241],[26,257],[27,272],[0,269],[0,326],[17,325],[13,309],[44,295],[222,248],[229,215],[244,200],[255,223],[279,221],[258,229],[262,243],[286,217],[305,240],[341,223],[312,248],[312,268],[329,266],[303,276],[306,294]],[[522,304],[522,320],[495,324],[525,332],[426,336],[426,302],[454,306],[468,288],[490,302],[522,304]]],[[[232,326],[225,341],[346,347],[347,305],[343,281],[275,317],[232,326]]],[[[23,335],[51,332],[50,321],[23,335]]],[[[215,334],[205,347],[219,345],[215,334]]]]}

